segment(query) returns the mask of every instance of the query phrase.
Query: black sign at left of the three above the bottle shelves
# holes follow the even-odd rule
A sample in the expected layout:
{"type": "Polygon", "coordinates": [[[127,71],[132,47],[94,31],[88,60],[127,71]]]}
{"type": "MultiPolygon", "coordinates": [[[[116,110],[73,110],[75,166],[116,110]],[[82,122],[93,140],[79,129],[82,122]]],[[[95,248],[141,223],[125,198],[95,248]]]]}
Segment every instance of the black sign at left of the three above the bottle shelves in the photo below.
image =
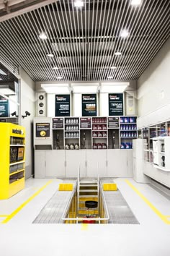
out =
{"type": "Polygon", "coordinates": [[[70,116],[70,95],[55,95],[55,116],[70,116]]]}

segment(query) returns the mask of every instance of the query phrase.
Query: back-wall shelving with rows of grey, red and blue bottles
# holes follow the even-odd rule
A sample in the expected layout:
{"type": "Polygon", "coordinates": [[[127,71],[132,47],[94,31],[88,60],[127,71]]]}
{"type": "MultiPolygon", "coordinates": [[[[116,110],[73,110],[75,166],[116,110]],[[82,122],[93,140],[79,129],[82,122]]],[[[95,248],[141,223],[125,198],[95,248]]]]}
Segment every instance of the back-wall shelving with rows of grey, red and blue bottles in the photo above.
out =
{"type": "MultiPolygon", "coordinates": [[[[48,119],[44,122],[49,122],[48,119]]],[[[136,116],[52,118],[51,149],[132,149],[133,140],[138,137],[136,119],[136,116]]],[[[36,121],[38,123],[38,119],[35,120],[35,127],[36,121]]],[[[45,143],[46,140],[43,142],[45,143]]],[[[42,147],[42,149],[45,148],[42,147]]]]}

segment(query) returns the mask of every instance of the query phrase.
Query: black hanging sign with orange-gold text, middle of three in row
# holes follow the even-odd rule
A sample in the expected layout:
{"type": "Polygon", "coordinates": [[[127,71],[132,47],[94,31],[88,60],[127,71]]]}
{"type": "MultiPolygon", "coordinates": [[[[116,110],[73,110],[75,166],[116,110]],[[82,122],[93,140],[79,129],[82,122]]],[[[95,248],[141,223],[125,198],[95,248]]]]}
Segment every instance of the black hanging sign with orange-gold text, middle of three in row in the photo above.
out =
{"type": "Polygon", "coordinates": [[[97,94],[82,94],[82,116],[97,116],[97,94]]]}

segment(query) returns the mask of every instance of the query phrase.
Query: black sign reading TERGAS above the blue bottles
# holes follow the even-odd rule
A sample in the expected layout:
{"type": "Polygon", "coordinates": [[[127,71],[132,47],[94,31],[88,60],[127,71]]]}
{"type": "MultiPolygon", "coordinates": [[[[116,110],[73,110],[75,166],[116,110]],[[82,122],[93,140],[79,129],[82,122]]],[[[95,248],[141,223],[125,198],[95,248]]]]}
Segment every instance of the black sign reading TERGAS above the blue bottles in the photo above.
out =
{"type": "Polygon", "coordinates": [[[109,93],[109,116],[123,116],[123,93],[109,93]]]}

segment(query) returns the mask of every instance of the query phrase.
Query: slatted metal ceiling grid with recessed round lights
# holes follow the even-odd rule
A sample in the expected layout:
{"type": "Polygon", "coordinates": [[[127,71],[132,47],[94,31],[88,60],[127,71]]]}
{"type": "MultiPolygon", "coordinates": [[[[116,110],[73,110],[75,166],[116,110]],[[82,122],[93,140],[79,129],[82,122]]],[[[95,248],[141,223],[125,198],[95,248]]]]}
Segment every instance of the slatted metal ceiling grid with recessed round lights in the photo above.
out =
{"type": "Polygon", "coordinates": [[[170,1],[130,1],[84,0],[79,9],[60,0],[1,22],[0,61],[35,81],[136,80],[169,38],[170,1]]]}

